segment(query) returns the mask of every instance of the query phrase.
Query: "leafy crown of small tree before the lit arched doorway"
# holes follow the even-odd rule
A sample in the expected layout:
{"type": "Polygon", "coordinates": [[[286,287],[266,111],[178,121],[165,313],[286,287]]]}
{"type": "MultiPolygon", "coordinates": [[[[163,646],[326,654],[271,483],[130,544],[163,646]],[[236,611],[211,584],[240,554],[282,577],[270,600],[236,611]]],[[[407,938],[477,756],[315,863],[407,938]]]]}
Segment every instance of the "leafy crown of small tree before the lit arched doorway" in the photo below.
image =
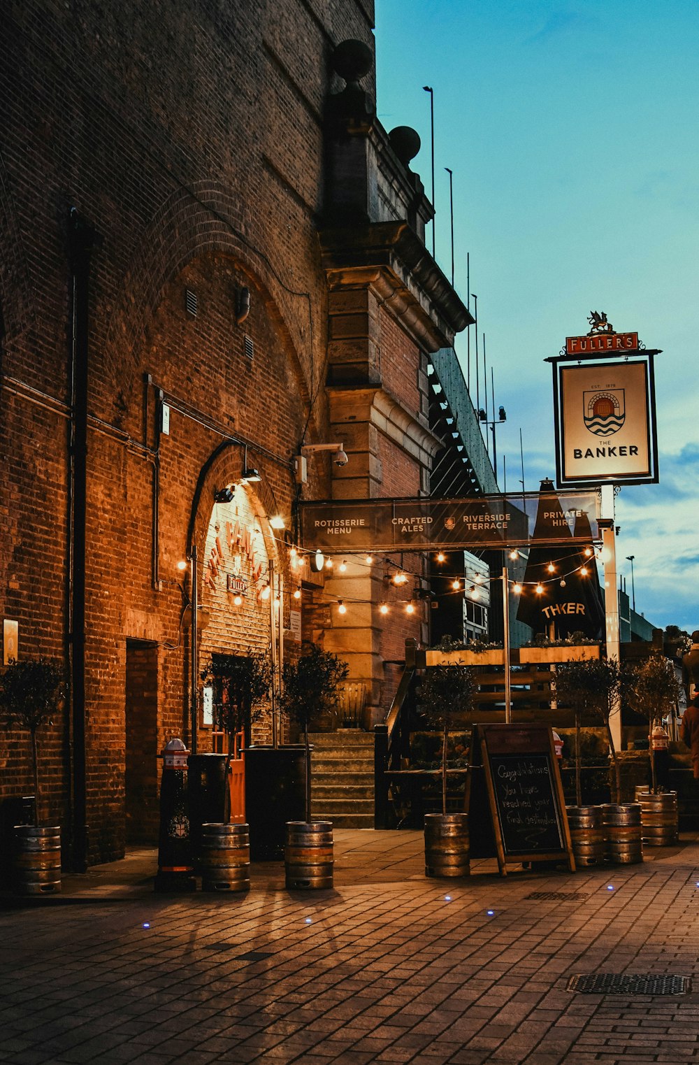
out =
{"type": "Polygon", "coordinates": [[[247,655],[217,655],[201,671],[201,679],[213,686],[216,723],[229,736],[248,732],[261,718],[271,681],[264,652],[249,649],[247,655]]]}

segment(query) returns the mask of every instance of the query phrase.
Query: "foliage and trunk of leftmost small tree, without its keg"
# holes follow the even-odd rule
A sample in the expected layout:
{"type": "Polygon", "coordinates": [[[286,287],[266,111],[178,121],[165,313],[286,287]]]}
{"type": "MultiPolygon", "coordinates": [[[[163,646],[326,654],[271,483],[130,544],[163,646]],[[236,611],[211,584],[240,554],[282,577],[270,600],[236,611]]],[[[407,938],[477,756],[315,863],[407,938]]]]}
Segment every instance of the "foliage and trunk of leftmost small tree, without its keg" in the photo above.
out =
{"type": "Polygon", "coordinates": [[[4,710],[7,727],[27,728],[31,737],[35,828],[39,823],[41,805],[36,734],[41,725],[53,724],[51,719],[64,694],[63,672],[46,658],[13,659],[0,676],[0,707],[4,710]]]}

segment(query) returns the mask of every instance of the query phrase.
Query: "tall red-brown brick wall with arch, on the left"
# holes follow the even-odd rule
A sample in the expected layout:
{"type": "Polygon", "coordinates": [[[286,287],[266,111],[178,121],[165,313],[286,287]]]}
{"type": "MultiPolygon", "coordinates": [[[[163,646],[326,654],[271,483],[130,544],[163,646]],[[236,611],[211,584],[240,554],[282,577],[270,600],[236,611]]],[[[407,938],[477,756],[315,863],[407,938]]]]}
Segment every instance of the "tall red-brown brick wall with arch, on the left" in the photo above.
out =
{"type": "MultiPolygon", "coordinates": [[[[187,739],[188,636],[176,563],[199,471],[222,433],[256,445],[248,459],[265,477],[262,509],[290,517],[290,459],[324,374],[315,215],[321,115],[334,84],[328,61],[343,39],[372,43],[369,0],[313,9],[301,0],[271,9],[195,2],[186,12],[164,0],[86,0],[78,17],[60,0],[3,7],[0,610],[19,620],[21,654],[66,662],[70,206],[99,237],[87,455],[91,862],[124,847],[127,639],[159,644],[159,747],[172,735],[187,739]],[[251,291],[251,312],[236,326],[240,285],[251,291]],[[196,320],[184,312],[185,288],[197,293],[196,320]],[[159,454],[155,386],[171,400],[159,454]]],[[[370,79],[364,84],[371,89],[370,79]]],[[[323,419],[316,402],[311,439],[322,437],[323,419]]],[[[230,447],[202,486],[201,554],[213,491],[238,478],[242,462],[242,448],[230,447]]],[[[247,636],[231,626],[218,649],[245,650],[247,636]]],[[[50,816],[66,832],[69,741],[62,718],[43,744],[50,816]]],[[[26,791],[24,740],[3,734],[1,743],[0,796],[26,791]]]]}

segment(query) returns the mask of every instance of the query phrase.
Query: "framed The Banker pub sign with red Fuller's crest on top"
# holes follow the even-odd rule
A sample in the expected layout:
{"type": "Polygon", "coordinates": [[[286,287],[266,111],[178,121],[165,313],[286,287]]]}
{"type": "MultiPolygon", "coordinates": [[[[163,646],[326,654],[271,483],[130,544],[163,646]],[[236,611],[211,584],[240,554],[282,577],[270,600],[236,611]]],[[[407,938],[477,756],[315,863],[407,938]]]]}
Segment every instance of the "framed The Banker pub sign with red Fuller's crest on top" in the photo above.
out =
{"type": "Polygon", "coordinates": [[[593,311],[553,365],[559,488],[658,481],[653,356],[593,311]],[[633,346],[631,346],[633,345],[633,346]],[[619,355],[625,355],[622,360],[619,355]],[[616,358],[615,358],[616,357],[616,358]]]}

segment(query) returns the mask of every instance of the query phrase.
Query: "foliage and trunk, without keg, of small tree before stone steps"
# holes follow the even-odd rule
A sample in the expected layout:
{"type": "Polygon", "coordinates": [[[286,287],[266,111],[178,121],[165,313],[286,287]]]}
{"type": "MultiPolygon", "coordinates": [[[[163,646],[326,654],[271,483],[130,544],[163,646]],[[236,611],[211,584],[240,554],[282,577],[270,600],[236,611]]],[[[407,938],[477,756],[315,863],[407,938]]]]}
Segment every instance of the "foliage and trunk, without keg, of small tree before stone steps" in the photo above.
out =
{"type": "Polygon", "coordinates": [[[334,710],[339,699],[339,685],[347,677],[349,666],[330,651],[315,643],[296,662],[285,662],[284,690],[279,700],[283,712],[301,725],[305,744],[305,819],[311,820],[311,749],[309,725],[314,715],[334,710]]]}

